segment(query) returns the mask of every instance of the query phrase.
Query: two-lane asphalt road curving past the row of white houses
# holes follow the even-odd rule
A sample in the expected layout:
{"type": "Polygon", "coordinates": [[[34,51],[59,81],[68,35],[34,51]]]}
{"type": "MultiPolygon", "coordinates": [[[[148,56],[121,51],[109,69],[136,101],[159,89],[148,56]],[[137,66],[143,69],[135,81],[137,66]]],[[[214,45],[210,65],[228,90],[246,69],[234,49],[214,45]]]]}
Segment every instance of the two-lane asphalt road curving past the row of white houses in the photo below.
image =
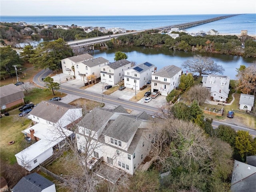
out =
{"type": "MultiPolygon", "coordinates": [[[[49,74],[52,74],[52,72],[50,70],[42,70],[34,76],[33,82],[37,86],[44,87],[42,78],[48,76],[49,74]]],[[[90,100],[102,102],[102,94],[98,94],[98,93],[90,92],[90,91],[86,91],[86,90],[81,90],[81,89],[73,88],[70,86],[65,86],[65,84],[62,84],[61,87],[62,87],[63,93],[72,94],[72,95],[76,95],[76,96],[79,96],[82,98],[87,98],[90,100]]],[[[168,110],[165,110],[165,109],[146,106],[146,105],[142,105],[142,104],[132,102],[129,100],[122,100],[122,99],[114,98],[112,96],[107,96],[107,95],[103,96],[103,102],[106,104],[114,105],[114,106],[122,105],[126,109],[130,109],[130,110],[134,110],[134,111],[138,111],[138,112],[145,111],[148,114],[151,114],[153,116],[164,117],[166,114],[168,114],[168,110]]],[[[236,126],[236,125],[232,125],[232,124],[227,124],[227,123],[223,123],[223,122],[218,122],[218,121],[212,122],[213,128],[218,128],[218,126],[220,124],[231,126],[236,131],[238,131],[238,130],[248,131],[249,134],[252,135],[253,138],[256,136],[256,130],[252,130],[252,129],[249,129],[246,127],[236,126]]]]}

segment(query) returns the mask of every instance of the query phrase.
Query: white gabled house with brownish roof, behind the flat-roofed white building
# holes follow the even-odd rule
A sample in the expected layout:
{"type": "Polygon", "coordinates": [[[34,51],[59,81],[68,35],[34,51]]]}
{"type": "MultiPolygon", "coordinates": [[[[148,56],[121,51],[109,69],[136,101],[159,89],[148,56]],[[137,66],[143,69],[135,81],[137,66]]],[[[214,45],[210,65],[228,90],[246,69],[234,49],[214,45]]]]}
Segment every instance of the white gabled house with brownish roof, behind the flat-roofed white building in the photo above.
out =
{"type": "Polygon", "coordinates": [[[82,117],[82,108],[59,101],[42,101],[29,114],[34,124],[51,124],[67,128],[82,117]]]}

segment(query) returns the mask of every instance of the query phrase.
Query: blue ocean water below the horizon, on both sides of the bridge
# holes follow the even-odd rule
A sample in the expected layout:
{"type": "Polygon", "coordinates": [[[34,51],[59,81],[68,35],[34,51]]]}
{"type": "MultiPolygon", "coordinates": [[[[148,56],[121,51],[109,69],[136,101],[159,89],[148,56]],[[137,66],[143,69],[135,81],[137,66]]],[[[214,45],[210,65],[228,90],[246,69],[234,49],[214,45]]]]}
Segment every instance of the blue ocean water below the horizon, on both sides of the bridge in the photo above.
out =
{"type": "MultiPolygon", "coordinates": [[[[199,20],[210,19],[225,14],[207,15],[158,15],[158,16],[1,16],[1,22],[26,22],[28,24],[72,24],[84,27],[120,27],[126,30],[145,30],[161,26],[170,26],[199,20]]],[[[227,14],[226,14],[227,15],[227,14]]],[[[210,29],[219,33],[240,34],[248,30],[248,34],[256,34],[256,14],[240,14],[230,18],[210,22],[186,29],[189,32],[205,32],[210,29]]]]}

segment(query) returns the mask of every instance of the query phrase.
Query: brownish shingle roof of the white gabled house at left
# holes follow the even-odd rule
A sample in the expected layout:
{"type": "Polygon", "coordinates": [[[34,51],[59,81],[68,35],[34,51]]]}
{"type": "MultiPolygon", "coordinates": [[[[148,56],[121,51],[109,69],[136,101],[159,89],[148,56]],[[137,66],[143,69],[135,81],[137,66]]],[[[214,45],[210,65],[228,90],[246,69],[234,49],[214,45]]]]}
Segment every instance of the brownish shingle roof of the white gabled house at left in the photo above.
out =
{"type": "Polygon", "coordinates": [[[56,123],[70,108],[74,107],[59,101],[41,101],[29,114],[56,123]]]}

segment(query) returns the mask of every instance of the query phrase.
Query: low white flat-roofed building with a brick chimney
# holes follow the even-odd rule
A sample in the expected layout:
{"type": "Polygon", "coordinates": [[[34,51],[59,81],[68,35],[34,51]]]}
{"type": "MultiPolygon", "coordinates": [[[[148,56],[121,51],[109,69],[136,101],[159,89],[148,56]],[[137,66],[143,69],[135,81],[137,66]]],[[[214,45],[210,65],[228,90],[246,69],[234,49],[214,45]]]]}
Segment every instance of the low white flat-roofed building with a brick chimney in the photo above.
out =
{"type": "MultiPolygon", "coordinates": [[[[17,153],[18,164],[31,171],[54,154],[55,148],[61,148],[66,138],[73,134],[65,128],[57,128],[50,124],[38,123],[22,131],[26,137],[36,143],[17,153]]],[[[71,138],[70,138],[71,139],[71,138]]]]}

